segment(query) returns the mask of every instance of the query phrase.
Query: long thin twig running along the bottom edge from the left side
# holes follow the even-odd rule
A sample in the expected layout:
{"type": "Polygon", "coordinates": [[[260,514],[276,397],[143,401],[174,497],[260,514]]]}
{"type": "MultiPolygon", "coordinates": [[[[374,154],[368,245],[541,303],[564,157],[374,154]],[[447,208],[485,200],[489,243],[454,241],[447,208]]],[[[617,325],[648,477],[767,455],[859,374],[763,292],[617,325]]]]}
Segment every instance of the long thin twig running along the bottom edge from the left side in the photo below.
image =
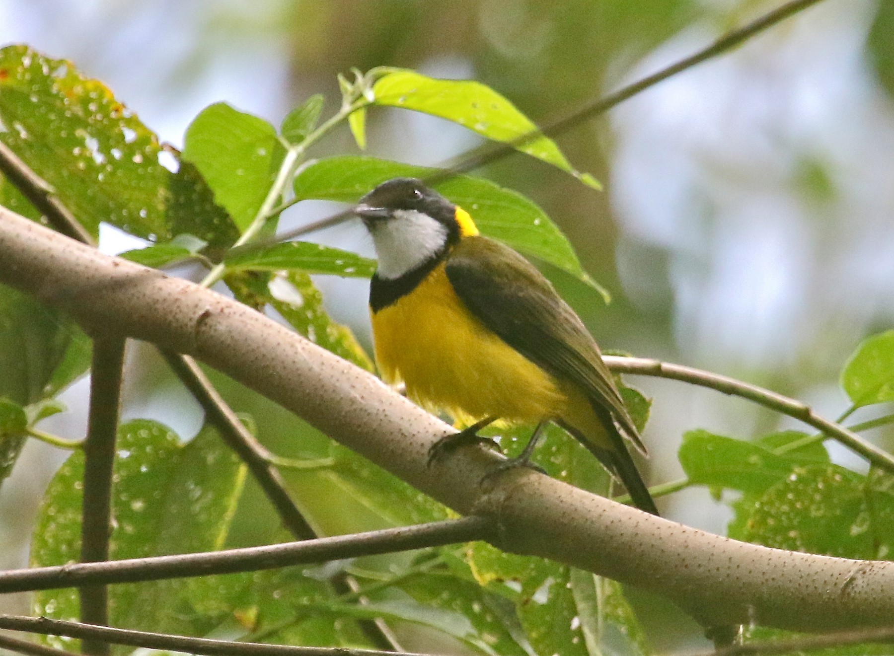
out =
{"type": "MultiPolygon", "coordinates": [[[[171,652],[187,652],[204,656],[395,656],[395,652],[348,647],[298,647],[291,644],[236,643],[227,640],[190,638],[182,635],[156,634],[122,628],[93,627],[80,622],[59,619],[25,618],[0,615],[0,628],[44,635],[66,635],[72,638],[105,640],[113,644],[145,647],[171,652]]],[[[404,653],[403,656],[424,656],[404,653]]],[[[430,655],[428,655],[430,656],[430,655]]]]}

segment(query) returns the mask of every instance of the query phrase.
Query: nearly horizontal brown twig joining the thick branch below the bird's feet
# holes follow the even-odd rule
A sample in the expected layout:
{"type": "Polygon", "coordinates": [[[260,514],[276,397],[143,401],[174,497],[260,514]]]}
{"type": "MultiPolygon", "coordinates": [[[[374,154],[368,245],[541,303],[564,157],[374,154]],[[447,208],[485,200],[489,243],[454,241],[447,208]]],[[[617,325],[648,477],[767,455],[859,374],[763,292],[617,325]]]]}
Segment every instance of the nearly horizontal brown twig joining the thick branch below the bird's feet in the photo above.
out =
{"type": "Polygon", "coordinates": [[[108,585],[232,574],[258,569],[359,558],[361,556],[438,547],[455,542],[494,537],[493,522],[485,517],[463,517],[416,526],[386,528],[350,535],[285,542],[173,556],[73,563],[48,568],[11,569],[0,572],[0,593],[55,590],[75,585],[108,585]]]}

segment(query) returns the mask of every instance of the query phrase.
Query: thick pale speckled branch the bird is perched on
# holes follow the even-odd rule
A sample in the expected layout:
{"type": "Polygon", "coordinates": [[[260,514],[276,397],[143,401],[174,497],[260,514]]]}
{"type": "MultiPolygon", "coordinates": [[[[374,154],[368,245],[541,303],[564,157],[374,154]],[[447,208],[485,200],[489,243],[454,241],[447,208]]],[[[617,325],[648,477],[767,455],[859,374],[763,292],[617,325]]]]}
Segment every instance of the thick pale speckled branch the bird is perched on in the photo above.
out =
{"type": "Polygon", "coordinates": [[[0,282],[104,329],[188,353],[302,416],[460,513],[496,519],[498,546],[611,576],[708,626],[885,626],[894,563],[767,549],[680,526],[532,471],[481,486],[478,448],[427,467],[453,429],[362,369],[249,307],[82,246],[0,208],[0,282]]]}

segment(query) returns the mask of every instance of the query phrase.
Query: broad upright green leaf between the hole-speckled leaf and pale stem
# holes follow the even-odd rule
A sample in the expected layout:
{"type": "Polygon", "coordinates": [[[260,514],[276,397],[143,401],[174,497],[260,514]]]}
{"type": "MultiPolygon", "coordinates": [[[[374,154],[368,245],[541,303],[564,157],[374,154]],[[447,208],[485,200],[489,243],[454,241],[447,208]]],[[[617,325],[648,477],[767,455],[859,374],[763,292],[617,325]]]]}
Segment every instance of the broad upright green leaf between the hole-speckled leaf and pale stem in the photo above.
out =
{"type": "Polygon", "coordinates": [[[225,103],[206,107],[186,130],[183,159],[198,167],[241,231],[264,203],[283,156],[273,125],[225,103]]]}

